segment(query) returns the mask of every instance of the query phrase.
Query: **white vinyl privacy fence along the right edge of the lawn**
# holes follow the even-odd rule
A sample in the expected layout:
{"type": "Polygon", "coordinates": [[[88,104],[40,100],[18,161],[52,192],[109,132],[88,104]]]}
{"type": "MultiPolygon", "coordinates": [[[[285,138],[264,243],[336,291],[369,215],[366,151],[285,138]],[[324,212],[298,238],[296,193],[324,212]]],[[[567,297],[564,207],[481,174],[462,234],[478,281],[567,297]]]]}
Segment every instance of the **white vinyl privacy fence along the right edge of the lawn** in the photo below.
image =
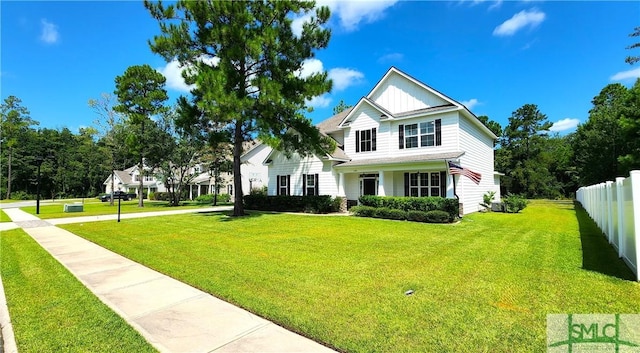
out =
{"type": "Polygon", "coordinates": [[[628,178],[582,187],[576,199],[640,281],[640,170],[632,170],[628,178]]]}

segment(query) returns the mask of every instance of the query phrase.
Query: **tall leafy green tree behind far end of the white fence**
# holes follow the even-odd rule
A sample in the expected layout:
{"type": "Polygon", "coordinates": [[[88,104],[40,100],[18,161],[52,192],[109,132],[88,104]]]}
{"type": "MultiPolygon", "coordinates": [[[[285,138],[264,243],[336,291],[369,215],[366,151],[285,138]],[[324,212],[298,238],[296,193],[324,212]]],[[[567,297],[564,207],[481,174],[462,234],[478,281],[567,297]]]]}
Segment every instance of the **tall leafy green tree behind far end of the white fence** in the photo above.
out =
{"type": "Polygon", "coordinates": [[[578,126],[572,148],[580,185],[623,175],[618,158],[627,150],[620,125],[627,94],[627,88],[619,83],[607,85],[591,101],[587,122],[578,126]]]}

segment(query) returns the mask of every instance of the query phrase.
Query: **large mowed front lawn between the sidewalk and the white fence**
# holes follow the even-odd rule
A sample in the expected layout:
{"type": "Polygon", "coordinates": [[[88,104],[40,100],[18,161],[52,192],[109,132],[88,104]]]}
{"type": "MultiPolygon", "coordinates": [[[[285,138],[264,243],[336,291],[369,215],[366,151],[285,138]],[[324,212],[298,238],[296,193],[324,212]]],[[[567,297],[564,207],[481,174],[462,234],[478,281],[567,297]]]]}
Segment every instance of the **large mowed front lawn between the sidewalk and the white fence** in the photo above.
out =
{"type": "Polygon", "coordinates": [[[640,303],[570,202],[448,225],[254,213],[63,228],[348,352],[545,351],[547,314],[640,303]]]}

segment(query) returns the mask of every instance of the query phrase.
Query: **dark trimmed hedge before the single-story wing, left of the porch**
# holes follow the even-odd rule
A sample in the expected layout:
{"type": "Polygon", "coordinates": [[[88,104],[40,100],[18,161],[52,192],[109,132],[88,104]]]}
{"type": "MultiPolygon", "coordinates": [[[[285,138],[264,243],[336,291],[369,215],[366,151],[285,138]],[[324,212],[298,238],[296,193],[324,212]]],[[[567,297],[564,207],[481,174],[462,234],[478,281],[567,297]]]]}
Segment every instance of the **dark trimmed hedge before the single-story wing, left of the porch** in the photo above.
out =
{"type": "Polygon", "coordinates": [[[244,207],[250,210],[276,212],[330,213],[340,210],[341,198],[330,195],[267,196],[251,194],[243,197],[244,207]]]}

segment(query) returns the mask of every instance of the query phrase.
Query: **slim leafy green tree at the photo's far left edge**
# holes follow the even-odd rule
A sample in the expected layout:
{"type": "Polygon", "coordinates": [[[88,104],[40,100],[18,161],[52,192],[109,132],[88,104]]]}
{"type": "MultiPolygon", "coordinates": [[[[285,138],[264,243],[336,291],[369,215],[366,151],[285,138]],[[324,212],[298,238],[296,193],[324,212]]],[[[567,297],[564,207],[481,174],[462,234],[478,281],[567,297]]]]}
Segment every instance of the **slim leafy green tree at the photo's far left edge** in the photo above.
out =
{"type": "Polygon", "coordinates": [[[38,125],[38,122],[31,119],[29,110],[22,106],[20,98],[15,96],[7,97],[2,105],[0,105],[0,143],[3,150],[7,154],[7,194],[6,198],[11,197],[11,183],[13,181],[12,166],[13,155],[20,141],[21,136],[32,126],[38,125]]]}

